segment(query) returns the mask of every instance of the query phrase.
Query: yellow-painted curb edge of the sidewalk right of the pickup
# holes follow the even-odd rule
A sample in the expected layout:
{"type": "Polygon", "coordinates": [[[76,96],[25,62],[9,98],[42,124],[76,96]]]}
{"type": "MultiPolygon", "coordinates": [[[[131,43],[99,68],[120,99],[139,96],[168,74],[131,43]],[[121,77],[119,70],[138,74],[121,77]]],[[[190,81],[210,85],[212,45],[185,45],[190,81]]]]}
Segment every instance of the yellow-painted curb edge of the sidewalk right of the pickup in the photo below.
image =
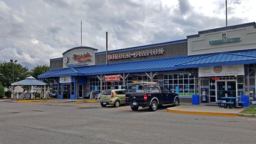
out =
{"type": "Polygon", "coordinates": [[[234,114],[234,113],[189,112],[189,111],[181,111],[181,110],[165,110],[165,112],[183,113],[183,114],[190,114],[190,115],[234,116],[234,117],[237,116],[237,114],[234,114]]]}

